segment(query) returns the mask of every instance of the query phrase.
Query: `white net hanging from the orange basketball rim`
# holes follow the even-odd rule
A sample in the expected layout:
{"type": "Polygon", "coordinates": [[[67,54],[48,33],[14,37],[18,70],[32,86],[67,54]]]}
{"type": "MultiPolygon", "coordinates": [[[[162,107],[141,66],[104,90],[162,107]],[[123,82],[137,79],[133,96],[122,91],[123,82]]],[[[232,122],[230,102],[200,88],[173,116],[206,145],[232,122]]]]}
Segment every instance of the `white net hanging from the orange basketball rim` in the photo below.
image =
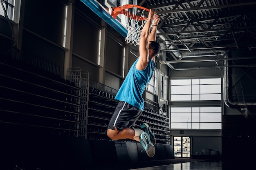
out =
{"type": "Polygon", "coordinates": [[[127,30],[128,30],[126,41],[129,44],[133,44],[137,46],[139,45],[141,30],[145,25],[147,19],[142,20],[142,18],[144,18],[144,15],[145,15],[145,9],[140,9],[142,10],[140,11],[141,15],[138,15],[136,13],[137,11],[136,7],[133,7],[130,10],[132,10],[132,13],[129,13],[128,14],[129,17],[126,17],[126,24],[127,24],[127,30]]]}

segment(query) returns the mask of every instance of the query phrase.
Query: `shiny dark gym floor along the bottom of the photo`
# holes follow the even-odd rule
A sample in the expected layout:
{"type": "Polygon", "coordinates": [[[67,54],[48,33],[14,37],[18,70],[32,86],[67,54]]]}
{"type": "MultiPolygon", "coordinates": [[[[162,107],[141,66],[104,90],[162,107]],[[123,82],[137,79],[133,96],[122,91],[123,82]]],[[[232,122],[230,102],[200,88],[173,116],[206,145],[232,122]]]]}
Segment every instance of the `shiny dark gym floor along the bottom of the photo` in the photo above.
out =
{"type": "Polygon", "coordinates": [[[144,161],[140,163],[102,165],[88,167],[88,170],[238,170],[247,169],[252,164],[244,161],[222,161],[211,159],[175,158],[162,161],[144,161]]]}

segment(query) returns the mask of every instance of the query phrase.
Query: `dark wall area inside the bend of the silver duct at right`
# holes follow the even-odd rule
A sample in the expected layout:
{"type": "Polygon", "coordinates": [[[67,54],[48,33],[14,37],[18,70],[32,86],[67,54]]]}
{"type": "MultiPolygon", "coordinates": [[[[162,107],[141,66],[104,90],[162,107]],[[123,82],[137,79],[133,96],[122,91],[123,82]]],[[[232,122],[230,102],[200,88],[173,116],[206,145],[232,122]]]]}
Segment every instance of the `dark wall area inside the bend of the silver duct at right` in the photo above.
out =
{"type": "Polygon", "coordinates": [[[232,50],[229,53],[230,58],[236,58],[236,60],[229,60],[227,62],[229,66],[227,69],[227,99],[231,107],[239,108],[241,104],[247,106],[254,105],[251,111],[255,112],[255,53],[255,49],[232,50]]]}

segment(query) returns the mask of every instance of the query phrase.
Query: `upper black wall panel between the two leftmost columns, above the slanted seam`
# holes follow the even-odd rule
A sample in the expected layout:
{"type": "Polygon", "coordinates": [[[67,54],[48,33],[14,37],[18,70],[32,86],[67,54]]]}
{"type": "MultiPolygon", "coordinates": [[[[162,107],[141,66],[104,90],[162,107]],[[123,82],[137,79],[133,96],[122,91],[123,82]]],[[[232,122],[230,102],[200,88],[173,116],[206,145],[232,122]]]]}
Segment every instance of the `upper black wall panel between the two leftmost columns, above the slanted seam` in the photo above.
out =
{"type": "MultiPolygon", "coordinates": [[[[59,0],[25,1],[24,28],[58,45],[63,44],[65,5],[59,0]]],[[[36,42],[35,42],[36,43],[36,42]]]]}

